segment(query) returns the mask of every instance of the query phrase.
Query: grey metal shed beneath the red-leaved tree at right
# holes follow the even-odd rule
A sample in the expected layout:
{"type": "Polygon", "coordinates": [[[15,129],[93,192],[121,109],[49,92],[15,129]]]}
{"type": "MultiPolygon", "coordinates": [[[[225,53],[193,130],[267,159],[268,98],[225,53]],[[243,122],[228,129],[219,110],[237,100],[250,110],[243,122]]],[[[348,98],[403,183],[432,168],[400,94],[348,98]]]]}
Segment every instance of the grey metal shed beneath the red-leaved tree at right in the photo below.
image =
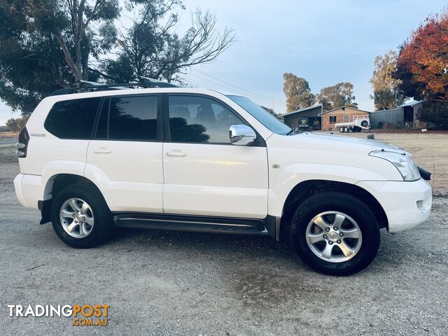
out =
{"type": "Polygon", "coordinates": [[[419,111],[423,102],[409,102],[396,109],[374,111],[370,114],[372,128],[383,128],[386,125],[396,125],[408,128],[425,127],[419,120],[419,111]]]}

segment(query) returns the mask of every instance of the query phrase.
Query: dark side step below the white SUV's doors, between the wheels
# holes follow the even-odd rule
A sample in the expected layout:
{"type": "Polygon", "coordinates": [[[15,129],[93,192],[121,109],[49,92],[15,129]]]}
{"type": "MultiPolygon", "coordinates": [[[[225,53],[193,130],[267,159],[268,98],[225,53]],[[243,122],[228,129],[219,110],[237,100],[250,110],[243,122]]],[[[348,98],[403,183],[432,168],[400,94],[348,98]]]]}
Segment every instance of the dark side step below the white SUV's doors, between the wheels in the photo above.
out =
{"type": "Polygon", "coordinates": [[[269,235],[259,219],[120,213],[113,214],[113,223],[121,228],[269,235]]]}

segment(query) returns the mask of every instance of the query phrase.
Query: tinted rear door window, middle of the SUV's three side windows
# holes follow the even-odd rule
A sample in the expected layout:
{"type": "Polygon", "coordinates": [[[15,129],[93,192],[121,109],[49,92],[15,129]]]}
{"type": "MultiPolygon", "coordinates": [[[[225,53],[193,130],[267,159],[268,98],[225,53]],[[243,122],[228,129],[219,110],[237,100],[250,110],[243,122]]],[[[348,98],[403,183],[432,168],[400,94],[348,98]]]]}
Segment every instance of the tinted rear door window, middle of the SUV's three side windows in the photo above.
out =
{"type": "Polygon", "coordinates": [[[97,139],[156,140],[158,96],[106,99],[98,120],[97,139]]]}

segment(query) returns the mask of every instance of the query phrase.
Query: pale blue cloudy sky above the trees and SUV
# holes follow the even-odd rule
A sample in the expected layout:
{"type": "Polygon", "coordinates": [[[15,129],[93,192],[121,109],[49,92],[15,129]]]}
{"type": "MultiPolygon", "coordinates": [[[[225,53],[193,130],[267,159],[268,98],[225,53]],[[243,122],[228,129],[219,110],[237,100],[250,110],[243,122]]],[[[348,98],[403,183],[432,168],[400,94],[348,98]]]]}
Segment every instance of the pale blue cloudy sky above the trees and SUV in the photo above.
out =
{"type": "MultiPolygon", "coordinates": [[[[218,25],[232,27],[237,43],[216,61],[193,68],[191,85],[245,95],[284,113],[283,78],[292,72],[308,80],[312,92],[339,82],[354,85],[360,109],[373,111],[369,79],[374,57],[397,50],[412,29],[446,0],[259,1],[184,0],[181,27],[190,10],[216,13],[218,25]]],[[[0,125],[19,113],[0,102],[0,125]]]]}

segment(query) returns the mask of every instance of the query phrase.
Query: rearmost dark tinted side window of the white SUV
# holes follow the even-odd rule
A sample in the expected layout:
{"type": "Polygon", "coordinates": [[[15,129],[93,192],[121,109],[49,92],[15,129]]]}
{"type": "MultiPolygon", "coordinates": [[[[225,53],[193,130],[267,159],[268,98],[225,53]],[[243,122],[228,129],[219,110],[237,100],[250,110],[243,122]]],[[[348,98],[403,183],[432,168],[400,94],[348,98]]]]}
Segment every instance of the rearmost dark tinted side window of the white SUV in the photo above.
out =
{"type": "Polygon", "coordinates": [[[65,100],[53,105],[45,130],[61,139],[90,139],[101,98],[65,100]]]}

